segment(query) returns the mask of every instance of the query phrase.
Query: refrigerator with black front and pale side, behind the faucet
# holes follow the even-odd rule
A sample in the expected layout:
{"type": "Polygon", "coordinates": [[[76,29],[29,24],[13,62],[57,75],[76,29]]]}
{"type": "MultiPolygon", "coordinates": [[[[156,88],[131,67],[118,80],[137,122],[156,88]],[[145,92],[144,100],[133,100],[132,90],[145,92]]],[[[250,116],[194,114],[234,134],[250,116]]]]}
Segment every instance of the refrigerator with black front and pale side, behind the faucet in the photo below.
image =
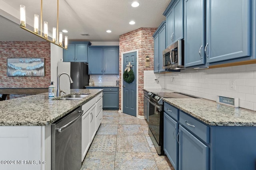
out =
{"type": "Polygon", "coordinates": [[[83,62],[58,62],[58,75],[62,72],[70,74],[74,82],[70,84],[68,76],[61,76],[62,89],[82,89],[89,84],[88,65],[83,62]],[[66,84],[66,87],[63,87],[64,84],[66,84]]]}

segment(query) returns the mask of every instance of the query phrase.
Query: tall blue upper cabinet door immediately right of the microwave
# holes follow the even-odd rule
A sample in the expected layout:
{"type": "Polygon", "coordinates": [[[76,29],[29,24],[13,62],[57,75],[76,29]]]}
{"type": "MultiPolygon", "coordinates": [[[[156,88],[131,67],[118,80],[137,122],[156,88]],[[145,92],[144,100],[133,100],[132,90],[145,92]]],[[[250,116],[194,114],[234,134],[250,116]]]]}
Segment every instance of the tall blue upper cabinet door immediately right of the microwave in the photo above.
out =
{"type": "Polygon", "coordinates": [[[184,66],[204,64],[204,0],[184,2],[184,66]]]}

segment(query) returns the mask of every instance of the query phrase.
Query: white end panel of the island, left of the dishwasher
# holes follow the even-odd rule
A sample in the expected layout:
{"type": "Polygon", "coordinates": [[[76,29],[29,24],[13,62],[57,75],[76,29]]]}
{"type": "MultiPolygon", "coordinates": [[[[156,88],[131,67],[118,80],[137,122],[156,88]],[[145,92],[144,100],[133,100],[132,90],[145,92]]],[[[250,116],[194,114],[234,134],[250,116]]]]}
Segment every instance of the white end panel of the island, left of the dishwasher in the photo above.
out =
{"type": "Polygon", "coordinates": [[[51,125],[0,126],[0,170],[50,170],[51,125]]]}

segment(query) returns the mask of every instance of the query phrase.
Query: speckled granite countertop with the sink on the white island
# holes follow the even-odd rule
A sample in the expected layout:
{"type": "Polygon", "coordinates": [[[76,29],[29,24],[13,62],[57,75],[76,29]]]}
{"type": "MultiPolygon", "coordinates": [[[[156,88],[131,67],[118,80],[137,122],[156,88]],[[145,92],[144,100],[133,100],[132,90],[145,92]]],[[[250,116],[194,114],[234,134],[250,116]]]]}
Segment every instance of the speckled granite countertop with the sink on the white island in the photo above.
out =
{"type": "Polygon", "coordinates": [[[101,89],[64,90],[68,94],[89,94],[81,100],[54,100],[48,93],[0,101],[0,126],[44,126],[53,123],[99,94],[101,89]]]}

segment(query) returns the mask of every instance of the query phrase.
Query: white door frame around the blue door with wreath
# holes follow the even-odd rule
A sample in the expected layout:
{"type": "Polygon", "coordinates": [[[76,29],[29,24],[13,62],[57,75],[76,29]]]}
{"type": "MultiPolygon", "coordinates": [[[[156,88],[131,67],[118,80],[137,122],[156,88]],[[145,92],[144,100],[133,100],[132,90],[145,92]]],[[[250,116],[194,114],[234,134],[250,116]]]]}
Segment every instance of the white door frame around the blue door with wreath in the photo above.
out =
{"type": "Polygon", "coordinates": [[[125,52],[122,52],[121,53],[121,112],[123,112],[123,57],[124,57],[124,54],[127,54],[127,53],[132,53],[132,52],[136,52],[136,55],[137,55],[137,59],[136,59],[136,67],[137,67],[137,74],[136,74],[136,117],[138,117],[138,88],[139,88],[139,84],[138,84],[138,73],[139,73],[139,62],[138,62],[138,54],[139,54],[139,50],[136,49],[136,50],[131,50],[131,51],[125,51],[125,52]]]}

